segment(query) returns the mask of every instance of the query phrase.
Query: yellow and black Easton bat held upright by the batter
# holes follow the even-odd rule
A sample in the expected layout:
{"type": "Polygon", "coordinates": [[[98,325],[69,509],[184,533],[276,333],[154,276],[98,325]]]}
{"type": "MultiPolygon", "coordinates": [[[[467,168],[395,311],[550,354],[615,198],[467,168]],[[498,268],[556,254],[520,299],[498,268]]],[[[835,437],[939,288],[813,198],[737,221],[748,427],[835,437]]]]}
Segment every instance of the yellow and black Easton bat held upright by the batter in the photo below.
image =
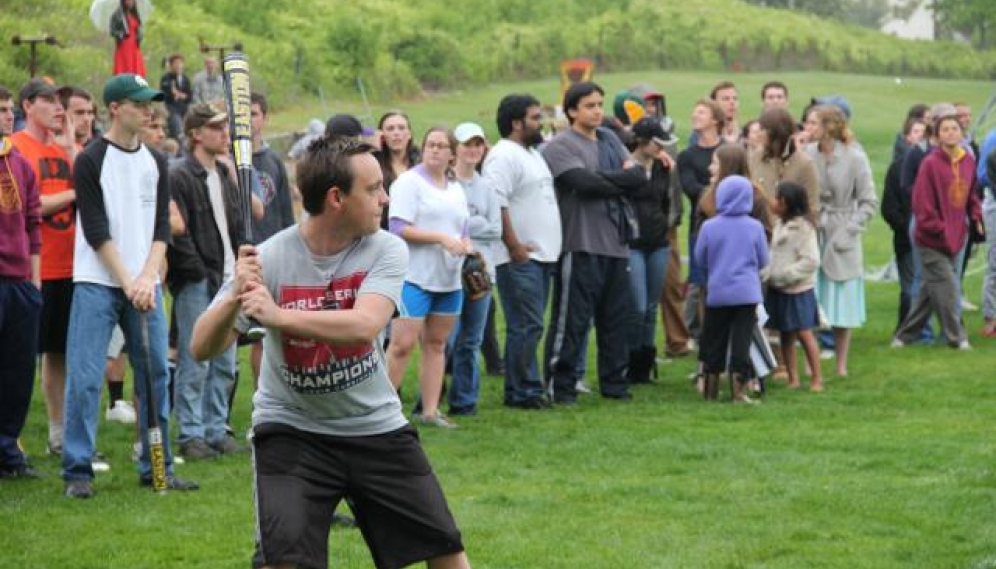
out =
{"type": "MultiPolygon", "coordinates": [[[[232,136],[232,152],[238,173],[242,223],[246,242],[255,245],[252,238],[252,88],[249,86],[249,59],[244,53],[232,52],[221,64],[225,78],[225,101],[228,103],[228,124],[232,136]]],[[[266,329],[252,322],[246,336],[258,340],[266,329]]]]}

